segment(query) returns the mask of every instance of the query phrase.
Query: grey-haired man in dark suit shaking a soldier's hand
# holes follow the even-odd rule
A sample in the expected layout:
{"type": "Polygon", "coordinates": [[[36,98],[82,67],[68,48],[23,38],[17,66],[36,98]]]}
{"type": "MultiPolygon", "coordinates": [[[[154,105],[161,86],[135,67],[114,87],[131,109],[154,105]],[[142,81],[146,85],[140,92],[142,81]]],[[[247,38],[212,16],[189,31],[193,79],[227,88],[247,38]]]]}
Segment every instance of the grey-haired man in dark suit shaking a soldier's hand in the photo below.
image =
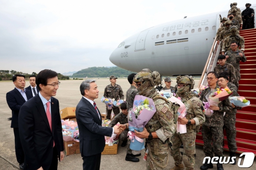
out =
{"type": "Polygon", "coordinates": [[[84,160],[84,170],[99,170],[101,152],[105,147],[105,136],[120,134],[123,129],[118,126],[103,127],[101,113],[94,99],[99,97],[96,80],[85,80],[80,85],[82,99],[76,106],[76,121],[79,128],[80,152],[84,160]]]}

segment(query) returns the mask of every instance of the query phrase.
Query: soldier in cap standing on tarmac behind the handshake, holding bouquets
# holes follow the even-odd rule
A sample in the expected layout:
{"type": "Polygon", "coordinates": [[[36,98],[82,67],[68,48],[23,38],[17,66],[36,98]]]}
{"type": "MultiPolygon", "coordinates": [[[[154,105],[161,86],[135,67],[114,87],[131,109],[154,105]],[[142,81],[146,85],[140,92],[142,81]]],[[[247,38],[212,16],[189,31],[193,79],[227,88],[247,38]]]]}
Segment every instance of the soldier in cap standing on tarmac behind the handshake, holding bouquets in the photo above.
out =
{"type": "MultiPolygon", "coordinates": [[[[123,100],[123,97],[124,97],[123,90],[122,90],[121,86],[116,84],[116,79],[117,78],[114,75],[110,76],[111,84],[108,85],[107,87],[105,87],[104,97],[110,98],[110,99],[115,99],[115,101],[118,101],[119,98],[123,100]]],[[[112,112],[112,109],[108,110],[108,107],[106,106],[106,114],[107,114],[106,119],[110,119],[111,112],[112,112]]],[[[115,116],[118,113],[120,113],[119,107],[116,107],[113,105],[113,112],[114,112],[115,116]]]]}

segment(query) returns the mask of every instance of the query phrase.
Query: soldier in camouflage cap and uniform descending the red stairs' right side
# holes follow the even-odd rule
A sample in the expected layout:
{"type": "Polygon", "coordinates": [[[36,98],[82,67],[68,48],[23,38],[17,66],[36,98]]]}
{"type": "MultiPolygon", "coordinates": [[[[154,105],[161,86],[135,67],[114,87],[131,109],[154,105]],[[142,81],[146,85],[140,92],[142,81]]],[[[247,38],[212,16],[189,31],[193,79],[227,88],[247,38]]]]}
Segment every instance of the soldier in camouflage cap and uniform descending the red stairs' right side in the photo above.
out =
{"type": "Polygon", "coordinates": [[[238,47],[238,42],[233,41],[231,42],[230,48],[232,50],[227,51],[226,53],[226,63],[232,64],[235,72],[236,72],[236,82],[235,85],[238,89],[239,87],[239,80],[241,78],[241,74],[240,74],[240,61],[242,62],[246,62],[246,57],[244,55],[244,53],[240,50],[237,50],[238,47]]]}

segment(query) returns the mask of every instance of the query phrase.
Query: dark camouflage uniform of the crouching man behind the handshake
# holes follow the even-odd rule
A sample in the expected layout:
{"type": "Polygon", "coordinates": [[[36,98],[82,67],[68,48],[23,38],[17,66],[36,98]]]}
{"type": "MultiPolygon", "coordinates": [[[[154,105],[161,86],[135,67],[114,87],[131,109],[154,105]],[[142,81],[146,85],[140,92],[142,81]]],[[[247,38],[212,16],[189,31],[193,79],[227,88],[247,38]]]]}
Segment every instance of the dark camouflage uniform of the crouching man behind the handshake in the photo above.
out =
{"type": "MultiPolygon", "coordinates": [[[[128,119],[127,119],[127,115],[123,114],[123,112],[117,114],[114,119],[109,123],[108,127],[114,127],[114,125],[116,125],[117,123],[120,123],[122,125],[128,123],[128,119]]],[[[126,141],[127,140],[127,134],[128,134],[129,129],[125,129],[119,136],[119,139],[122,141],[126,141]]],[[[130,149],[130,144],[131,144],[131,140],[128,140],[128,144],[127,144],[127,151],[126,153],[128,154],[132,154],[132,150],[130,149]]]]}

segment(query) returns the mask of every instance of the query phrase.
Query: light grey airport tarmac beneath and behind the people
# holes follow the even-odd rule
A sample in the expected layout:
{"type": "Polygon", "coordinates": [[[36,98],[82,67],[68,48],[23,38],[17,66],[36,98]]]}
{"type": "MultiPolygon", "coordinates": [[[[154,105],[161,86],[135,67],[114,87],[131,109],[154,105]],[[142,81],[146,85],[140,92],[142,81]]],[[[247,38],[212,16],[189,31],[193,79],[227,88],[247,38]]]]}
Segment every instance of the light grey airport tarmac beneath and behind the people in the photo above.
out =
{"type": "MultiPolygon", "coordinates": [[[[104,94],[105,87],[110,84],[108,79],[98,79],[95,78],[99,89],[99,98],[94,101],[97,104],[101,113],[106,111],[105,104],[101,102],[101,97],[104,94]]],[[[82,95],[80,93],[79,87],[83,80],[60,80],[61,84],[57,91],[55,98],[59,100],[59,107],[62,110],[65,107],[76,107],[82,95]]],[[[199,80],[195,80],[195,87],[197,86],[199,80]]],[[[176,80],[173,79],[172,85],[175,86],[176,80]]],[[[130,84],[127,79],[117,79],[117,84],[119,84],[126,96],[126,91],[130,88],[130,84]]],[[[163,83],[164,84],[164,83],[163,83]]],[[[164,84],[165,85],[165,84],[164,84]]],[[[26,81],[26,87],[29,86],[29,81],[26,81]]],[[[6,93],[14,89],[14,84],[12,81],[0,81],[0,170],[17,170],[19,169],[19,164],[15,156],[14,147],[14,133],[13,129],[10,128],[11,121],[7,119],[12,116],[11,110],[6,103],[6,93]]],[[[163,86],[164,87],[164,86],[163,86]]],[[[126,97],[125,97],[126,98],[126,97]]],[[[101,170],[145,170],[146,161],[143,161],[144,151],[142,151],[142,156],[139,156],[139,162],[128,162],[125,161],[126,147],[121,147],[119,142],[117,155],[102,155],[101,156],[101,170]]],[[[183,149],[180,149],[183,151],[183,149]]],[[[196,146],[196,165],[195,170],[200,170],[204,159],[203,146],[196,146]]],[[[224,156],[229,156],[228,152],[224,152],[224,156]]],[[[239,154],[236,154],[237,162],[239,154]]],[[[59,170],[82,170],[82,157],[81,154],[65,156],[64,160],[59,162],[59,170]]],[[[174,160],[171,155],[169,155],[169,164],[165,170],[170,170],[174,167],[174,160]]],[[[223,165],[225,170],[239,170],[241,168],[238,165],[225,164],[223,165]]],[[[213,165],[213,169],[216,169],[216,165],[213,165]]],[[[254,164],[250,168],[244,168],[248,170],[256,170],[256,160],[254,159],[254,164]]]]}

